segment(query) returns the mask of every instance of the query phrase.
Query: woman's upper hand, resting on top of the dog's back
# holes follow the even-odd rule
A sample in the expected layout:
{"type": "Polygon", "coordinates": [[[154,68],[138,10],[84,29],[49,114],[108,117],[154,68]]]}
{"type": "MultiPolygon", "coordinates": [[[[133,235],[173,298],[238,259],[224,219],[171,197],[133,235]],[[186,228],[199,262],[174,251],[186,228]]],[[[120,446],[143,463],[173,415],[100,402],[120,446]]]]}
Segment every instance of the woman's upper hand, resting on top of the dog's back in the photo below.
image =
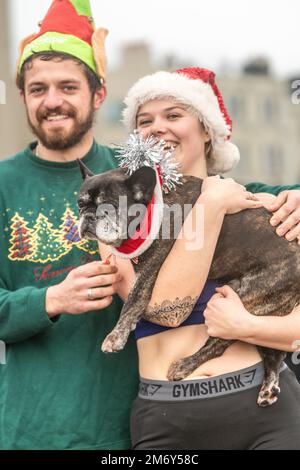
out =
{"type": "Polygon", "coordinates": [[[254,194],[232,178],[221,179],[219,176],[208,176],[203,180],[201,196],[201,200],[205,198],[219,205],[225,214],[235,214],[243,209],[262,207],[262,203],[254,194]]]}

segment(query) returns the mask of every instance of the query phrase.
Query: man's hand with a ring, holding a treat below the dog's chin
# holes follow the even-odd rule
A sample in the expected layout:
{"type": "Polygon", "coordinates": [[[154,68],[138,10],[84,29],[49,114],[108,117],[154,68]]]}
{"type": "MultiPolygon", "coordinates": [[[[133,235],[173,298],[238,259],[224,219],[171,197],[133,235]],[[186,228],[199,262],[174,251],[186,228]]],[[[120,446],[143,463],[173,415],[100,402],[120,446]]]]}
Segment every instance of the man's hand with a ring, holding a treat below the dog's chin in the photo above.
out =
{"type": "Polygon", "coordinates": [[[117,271],[117,266],[101,261],[73,269],[60,284],[47,290],[48,316],[51,318],[61,313],[78,315],[108,307],[117,290],[116,285],[122,279],[117,271]]]}

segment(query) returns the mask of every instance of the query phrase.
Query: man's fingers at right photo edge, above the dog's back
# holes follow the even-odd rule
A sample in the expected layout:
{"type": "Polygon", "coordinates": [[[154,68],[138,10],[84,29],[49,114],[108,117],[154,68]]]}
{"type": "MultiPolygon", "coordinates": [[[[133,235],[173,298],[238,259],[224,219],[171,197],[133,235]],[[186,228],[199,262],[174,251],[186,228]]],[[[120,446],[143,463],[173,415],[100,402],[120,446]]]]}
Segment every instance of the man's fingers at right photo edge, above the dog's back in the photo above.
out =
{"type": "Polygon", "coordinates": [[[300,244],[300,190],[282,191],[267,209],[273,212],[270,223],[276,233],[300,244]]]}

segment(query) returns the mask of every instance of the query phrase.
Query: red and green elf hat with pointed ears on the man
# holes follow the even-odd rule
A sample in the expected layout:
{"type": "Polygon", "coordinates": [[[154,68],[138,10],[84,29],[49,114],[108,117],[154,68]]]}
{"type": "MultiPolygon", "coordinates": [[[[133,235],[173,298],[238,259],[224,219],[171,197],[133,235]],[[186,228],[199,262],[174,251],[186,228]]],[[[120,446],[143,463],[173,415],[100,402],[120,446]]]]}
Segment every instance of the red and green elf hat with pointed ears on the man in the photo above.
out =
{"type": "Polygon", "coordinates": [[[20,44],[18,73],[32,55],[57,51],[80,59],[105,80],[104,42],[108,31],[95,29],[89,0],[53,0],[39,26],[39,33],[26,37],[20,44]]]}

